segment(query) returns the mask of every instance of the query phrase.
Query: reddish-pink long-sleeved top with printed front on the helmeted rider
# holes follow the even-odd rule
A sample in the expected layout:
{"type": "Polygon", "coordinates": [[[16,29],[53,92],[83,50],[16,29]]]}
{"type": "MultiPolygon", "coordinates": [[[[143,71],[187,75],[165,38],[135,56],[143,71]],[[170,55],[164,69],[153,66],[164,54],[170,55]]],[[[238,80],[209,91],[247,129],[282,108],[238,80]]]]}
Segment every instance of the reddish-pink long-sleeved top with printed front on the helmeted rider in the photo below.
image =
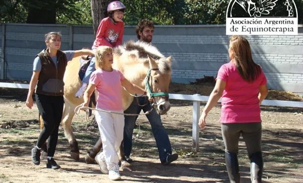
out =
{"type": "Polygon", "coordinates": [[[113,24],[109,17],[104,18],[100,21],[96,39],[93,43],[92,48],[97,48],[98,46],[119,46],[122,44],[123,33],[123,21],[118,21],[116,24],[113,24]]]}

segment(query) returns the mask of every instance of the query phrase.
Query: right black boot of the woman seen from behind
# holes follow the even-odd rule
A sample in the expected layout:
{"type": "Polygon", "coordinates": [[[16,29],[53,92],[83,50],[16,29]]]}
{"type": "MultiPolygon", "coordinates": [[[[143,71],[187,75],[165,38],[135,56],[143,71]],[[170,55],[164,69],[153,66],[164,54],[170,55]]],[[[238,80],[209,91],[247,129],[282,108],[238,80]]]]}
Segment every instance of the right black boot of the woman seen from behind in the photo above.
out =
{"type": "Polygon", "coordinates": [[[262,153],[257,152],[250,156],[250,179],[252,183],[261,183],[263,173],[262,153]]]}

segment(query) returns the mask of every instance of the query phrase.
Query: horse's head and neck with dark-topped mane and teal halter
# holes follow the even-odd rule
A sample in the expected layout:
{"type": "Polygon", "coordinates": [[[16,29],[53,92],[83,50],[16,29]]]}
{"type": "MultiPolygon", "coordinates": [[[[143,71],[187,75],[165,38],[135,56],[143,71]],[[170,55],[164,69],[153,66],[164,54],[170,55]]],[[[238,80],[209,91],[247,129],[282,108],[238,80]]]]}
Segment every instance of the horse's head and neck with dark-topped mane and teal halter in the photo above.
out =
{"type": "MultiPolygon", "coordinates": [[[[128,41],[114,48],[113,68],[119,69],[130,82],[145,87],[150,93],[158,114],[166,114],[171,108],[168,88],[171,82],[172,58],[166,58],[157,47],[142,41],[128,41]]],[[[124,109],[133,98],[124,93],[124,109]]]]}

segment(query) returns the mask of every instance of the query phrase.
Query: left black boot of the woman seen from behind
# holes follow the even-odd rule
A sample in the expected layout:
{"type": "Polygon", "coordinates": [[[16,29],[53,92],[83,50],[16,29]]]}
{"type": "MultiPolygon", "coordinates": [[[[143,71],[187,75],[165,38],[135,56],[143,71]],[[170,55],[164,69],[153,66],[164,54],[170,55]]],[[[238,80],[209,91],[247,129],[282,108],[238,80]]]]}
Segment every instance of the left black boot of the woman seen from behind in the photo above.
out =
{"type": "Polygon", "coordinates": [[[225,163],[230,183],[240,183],[239,163],[237,154],[225,152],[225,163]]]}

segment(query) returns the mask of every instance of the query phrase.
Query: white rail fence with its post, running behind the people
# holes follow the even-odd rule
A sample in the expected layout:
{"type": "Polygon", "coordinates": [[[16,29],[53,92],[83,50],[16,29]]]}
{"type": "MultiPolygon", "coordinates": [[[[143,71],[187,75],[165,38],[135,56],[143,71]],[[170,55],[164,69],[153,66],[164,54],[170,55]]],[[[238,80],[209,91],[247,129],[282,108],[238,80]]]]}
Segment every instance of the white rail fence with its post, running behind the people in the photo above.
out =
{"type": "MultiPolygon", "coordinates": [[[[0,82],[0,87],[28,89],[29,84],[0,82]]],[[[198,152],[199,151],[198,121],[200,118],[200,104],[201,104],[201,102],[207,102],[209,97],[201,96],[199,94],[195,94],[195,95],[169,94],[169,97],[170,97],[170,99],[173,99],[173,100],[184,100],[184,101],[193,101],[194,102],[193,103],[193,132],[192,132],[193,144],[192,144],[192,147],[195,148],[195,151],[198,152]]],[[[294,102],[294,101],[264,100],[264,101],[262,101],[261,105],[303,108],[303,102],[294,102]]]]}

